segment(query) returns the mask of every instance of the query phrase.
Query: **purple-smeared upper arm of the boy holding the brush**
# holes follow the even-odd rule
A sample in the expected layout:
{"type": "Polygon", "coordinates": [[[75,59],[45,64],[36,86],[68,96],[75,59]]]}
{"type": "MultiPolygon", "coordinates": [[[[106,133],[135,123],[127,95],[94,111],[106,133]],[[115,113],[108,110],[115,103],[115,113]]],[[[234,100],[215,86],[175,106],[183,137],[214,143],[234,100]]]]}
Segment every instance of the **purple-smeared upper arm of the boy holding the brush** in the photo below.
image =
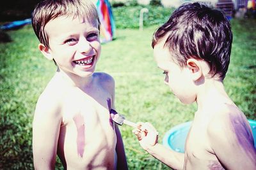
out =
{"type": "Polygon", "coordinates": [[[223,120],[225,118],[219,118],[208,129],[211,147],[218,160],[225,169],[256,169],[256,150],[249,126],[239,122],[239,118],[230,124],[223,120]]]}

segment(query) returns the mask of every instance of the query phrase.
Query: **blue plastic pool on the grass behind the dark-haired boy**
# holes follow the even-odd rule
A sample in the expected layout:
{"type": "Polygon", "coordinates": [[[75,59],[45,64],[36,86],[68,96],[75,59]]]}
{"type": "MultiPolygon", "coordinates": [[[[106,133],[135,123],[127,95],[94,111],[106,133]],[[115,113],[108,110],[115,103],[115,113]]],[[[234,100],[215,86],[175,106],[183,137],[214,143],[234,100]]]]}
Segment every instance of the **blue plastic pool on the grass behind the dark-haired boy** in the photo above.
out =
{"type": "MultiPolygon", "coordinates": [[[[248,122],[250,123],[252,129],[254,146],[256,148],[256,120],[249,119],[248,122]]],[[[190,126],[191,121],[176,125],[172,129],[170,129],[168,132],[166,132],[166,134],[164,134],[163,145],[168,146],[169,148],[175,150],[176,152],[184,153],[185,141],[190,126]]]]}

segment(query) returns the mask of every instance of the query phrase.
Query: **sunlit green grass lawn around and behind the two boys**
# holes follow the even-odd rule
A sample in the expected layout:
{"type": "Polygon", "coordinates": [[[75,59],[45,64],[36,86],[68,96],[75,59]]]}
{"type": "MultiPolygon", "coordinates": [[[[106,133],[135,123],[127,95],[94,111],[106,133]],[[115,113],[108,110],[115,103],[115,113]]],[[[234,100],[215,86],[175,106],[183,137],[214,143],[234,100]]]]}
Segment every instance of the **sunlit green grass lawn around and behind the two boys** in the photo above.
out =
{"type": "MultiPolygon", "coordinates": [[[[164,20],[162,18],[162,22],[164,20]]],[[[143,31],[131,29],[133,26],[129,24],[116,29],[115,41],[102,45],[97,71],[115,78],[116,110],[134,122],[151,122],[159,131],[161,143],[168,129],[193,119],[196,105],[181,104],[163,83],[162,71],[157,69],[150,46],[157,24],[160,22],[148,24],[143,31]]],[[[254,120],[255,27],[255,20],[232,20],[234,43],[224,81],[230,97],[248,118],[254,120]]],[[[13,41],[0,44],[0,169],[33,169],[33,112],[36,99],[56,66],[37,50],[38,40],[31,25],[8,31],[8,34],[13,41]]],[[[168,169],[140,148],[131,127],[123,125],[120,131],[129,169],[168,169]]],[[[56,169],[61,169],[59,163],[56,169]]]]}

